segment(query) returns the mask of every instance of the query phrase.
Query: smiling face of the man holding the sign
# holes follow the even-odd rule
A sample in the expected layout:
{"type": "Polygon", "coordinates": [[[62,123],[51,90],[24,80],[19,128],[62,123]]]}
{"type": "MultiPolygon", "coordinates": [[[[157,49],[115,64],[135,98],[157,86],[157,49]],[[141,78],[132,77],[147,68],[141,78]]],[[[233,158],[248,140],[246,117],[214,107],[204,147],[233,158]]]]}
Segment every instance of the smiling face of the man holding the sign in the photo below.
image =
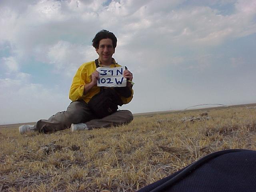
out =
{"type": "Polygon", "coordinates": [[[112,40],[100,40],[99,48],[96,48],[96,52],[99,54],[100,62],[110,65],[112,62],[112,55],[115,52],[112,40]]]}

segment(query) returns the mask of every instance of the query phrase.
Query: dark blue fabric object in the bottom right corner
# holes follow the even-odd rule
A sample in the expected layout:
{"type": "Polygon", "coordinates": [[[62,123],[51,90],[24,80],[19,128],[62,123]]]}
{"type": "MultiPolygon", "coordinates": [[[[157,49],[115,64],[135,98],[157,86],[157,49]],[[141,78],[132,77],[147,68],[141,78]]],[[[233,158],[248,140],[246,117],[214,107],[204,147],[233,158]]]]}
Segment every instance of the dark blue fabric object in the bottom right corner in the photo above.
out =
{"type": "Polygon", "coordinates": [[[256,151],[208,154],[138,192],[256,192],[256,151]]]}

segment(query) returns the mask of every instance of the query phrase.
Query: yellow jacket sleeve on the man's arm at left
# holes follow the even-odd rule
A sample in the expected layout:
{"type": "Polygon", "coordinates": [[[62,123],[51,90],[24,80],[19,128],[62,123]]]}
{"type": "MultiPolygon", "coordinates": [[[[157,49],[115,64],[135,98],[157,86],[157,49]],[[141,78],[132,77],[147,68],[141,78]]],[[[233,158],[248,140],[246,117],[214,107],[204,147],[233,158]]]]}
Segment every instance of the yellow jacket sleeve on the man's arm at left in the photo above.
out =
{"type": "Polygon", "coordinates": [[[78,68],[71,87],[69,91],[69,98],[72,101],[77,101],[83,99],[84,96],[84,85],[88,82],[86,82],[87,79],[87,69],[85,67],[78,68]]]}

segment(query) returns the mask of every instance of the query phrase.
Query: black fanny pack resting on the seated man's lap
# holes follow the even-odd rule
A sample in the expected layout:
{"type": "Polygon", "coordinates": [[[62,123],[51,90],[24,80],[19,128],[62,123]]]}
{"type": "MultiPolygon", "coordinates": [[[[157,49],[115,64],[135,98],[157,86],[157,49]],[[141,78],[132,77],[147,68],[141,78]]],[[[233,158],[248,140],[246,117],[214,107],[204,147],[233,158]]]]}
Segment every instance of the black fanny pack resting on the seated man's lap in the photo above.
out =
{"type": "Polygon", "coordinates": [[[100,92],[94,95],[88,102],[89,108],[98,118],[106,117],[118,110],[118,105],[123,102],[116,90],[112,88],[102,88],[100,92]]]}

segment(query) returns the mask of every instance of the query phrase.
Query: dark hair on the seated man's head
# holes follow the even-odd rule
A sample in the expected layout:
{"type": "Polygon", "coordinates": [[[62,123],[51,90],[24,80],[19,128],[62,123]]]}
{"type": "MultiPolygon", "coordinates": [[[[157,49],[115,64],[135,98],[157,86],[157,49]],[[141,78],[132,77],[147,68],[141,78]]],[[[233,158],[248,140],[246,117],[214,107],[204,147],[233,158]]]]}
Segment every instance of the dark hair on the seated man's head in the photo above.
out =
{"type": "Polygon", "coordinates": [[[99,44],[100,44],[100,40],[102,39],[111,39],[112,43],[113,43],[113,48],[116,48],[116,42],[117,42],[117,38],[114,35],[114,33],[109,32],[108,30],[100,30],[94,37],[94,39],[92,40],[92,46],[94,46],[94,48],[98,49],[99,48],[99,44]]]}

